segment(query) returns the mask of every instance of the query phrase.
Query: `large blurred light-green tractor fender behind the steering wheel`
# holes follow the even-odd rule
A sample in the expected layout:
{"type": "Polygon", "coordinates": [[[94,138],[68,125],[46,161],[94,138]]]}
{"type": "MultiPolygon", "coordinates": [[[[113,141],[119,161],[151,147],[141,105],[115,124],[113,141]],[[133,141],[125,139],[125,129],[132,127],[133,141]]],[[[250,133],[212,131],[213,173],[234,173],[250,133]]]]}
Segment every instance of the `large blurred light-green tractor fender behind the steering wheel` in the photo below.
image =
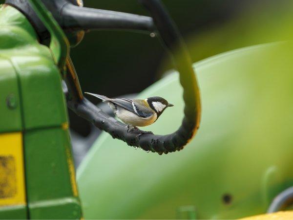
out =
{"type": "MultiPolygon", "coordinates": [[[[78,170],[84,218],[235,219],[266,212],[293,184],[292,57],[290,43],[265,44],[196,63],[201,125],[180,152],[147,154],[103,133],[78,170]]],[[[154,95],[175,106],[145,130],[174,132],[184,108],[178,76],[139,97],[154,95]]]]}

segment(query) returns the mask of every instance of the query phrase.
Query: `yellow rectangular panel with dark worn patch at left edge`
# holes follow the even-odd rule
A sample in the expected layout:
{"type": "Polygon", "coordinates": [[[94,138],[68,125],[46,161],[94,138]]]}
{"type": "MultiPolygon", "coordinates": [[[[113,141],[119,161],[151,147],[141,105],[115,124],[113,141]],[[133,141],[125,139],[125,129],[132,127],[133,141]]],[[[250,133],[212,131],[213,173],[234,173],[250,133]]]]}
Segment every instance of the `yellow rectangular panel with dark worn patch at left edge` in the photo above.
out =
{"type": "Polygon", "coordinates": [[[0,206],[26,204],[22,133],[0,134],[0,206]]]}

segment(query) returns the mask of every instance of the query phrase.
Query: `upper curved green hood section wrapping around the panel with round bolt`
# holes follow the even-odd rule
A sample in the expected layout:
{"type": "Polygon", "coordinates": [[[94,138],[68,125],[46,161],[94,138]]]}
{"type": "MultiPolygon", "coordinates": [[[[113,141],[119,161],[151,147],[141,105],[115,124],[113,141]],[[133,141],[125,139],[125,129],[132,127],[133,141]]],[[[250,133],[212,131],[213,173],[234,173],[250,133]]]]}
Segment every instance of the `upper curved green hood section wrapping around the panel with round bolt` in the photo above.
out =
{"type": "Polygon", "coordinates": [[[67,122],[61,75],[49,48],[38,43],[33,27],[15,8],[0,7],[0,21],[0,52],[19,77],[24,128],[67,122]]]}

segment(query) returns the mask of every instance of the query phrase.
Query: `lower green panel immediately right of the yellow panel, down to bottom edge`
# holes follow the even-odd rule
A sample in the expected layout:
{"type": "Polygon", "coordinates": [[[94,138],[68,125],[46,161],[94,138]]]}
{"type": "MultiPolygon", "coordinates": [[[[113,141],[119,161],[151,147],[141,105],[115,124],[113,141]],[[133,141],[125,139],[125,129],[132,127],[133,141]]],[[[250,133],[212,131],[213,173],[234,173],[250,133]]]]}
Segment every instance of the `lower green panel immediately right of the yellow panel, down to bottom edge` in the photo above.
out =
{"type": "Polygon", "coordinates": [[[62,128],[24,133],[31,219],[80,219],[69,134],[62,128]]]}

